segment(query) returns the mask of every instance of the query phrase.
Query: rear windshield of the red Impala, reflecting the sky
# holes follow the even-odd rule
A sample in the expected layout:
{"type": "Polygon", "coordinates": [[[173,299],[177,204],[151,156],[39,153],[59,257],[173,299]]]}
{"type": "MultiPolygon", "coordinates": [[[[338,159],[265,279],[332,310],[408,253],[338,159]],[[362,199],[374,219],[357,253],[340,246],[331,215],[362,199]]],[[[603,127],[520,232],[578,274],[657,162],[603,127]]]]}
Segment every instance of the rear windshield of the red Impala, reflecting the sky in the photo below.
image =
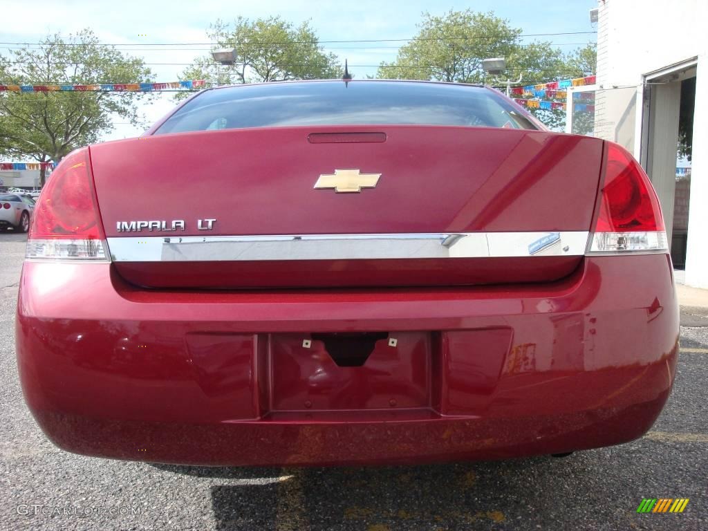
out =
{"type": "Polygon", "coordinates": [[[536,129],[501,94],[401,81],[242,85],[205,91],[154,134],[296,125],[462,125],[536,129]]]}

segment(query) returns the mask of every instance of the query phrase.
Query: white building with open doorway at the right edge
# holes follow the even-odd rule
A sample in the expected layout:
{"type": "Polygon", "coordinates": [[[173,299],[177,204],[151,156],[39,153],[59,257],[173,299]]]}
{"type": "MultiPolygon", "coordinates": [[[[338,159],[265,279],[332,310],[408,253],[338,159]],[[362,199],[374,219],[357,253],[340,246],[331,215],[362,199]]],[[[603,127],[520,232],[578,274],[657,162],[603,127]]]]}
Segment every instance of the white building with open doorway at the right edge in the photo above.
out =
{"type": "Polygon", "coordinates": [[[708,288],[708,0],[599,0],[597,84],[595,135],[644,166],[669,237],[682,87],[695,95],[687,236],[675,244],[686,242],[686,283],[708,288]]]}

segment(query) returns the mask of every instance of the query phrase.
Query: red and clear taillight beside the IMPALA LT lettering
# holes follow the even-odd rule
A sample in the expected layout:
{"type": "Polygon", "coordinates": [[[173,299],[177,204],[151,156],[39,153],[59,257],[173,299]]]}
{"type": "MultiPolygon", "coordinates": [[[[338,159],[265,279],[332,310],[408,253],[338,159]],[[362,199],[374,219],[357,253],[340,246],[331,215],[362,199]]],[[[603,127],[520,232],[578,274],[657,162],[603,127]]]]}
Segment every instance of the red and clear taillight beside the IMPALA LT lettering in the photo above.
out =
{"type": "Polygon", "coordinates": [[[42,190],[26,257],[108,261],[106,249],[89,149],[77,149],[62,159],[42,190]]]}

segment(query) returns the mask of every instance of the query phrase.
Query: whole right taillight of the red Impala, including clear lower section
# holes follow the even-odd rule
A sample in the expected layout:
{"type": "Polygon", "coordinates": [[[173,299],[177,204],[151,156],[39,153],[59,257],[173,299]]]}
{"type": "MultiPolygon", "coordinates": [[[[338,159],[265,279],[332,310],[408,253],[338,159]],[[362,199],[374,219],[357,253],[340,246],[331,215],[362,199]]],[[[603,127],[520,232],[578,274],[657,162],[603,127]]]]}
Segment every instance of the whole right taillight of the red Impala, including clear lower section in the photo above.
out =
{"type": "Polygon", "coordinates": [[[603,184],[588,252],[668,251],[661,207],[649,177],[622,146],[605,145],[603,184]]]}

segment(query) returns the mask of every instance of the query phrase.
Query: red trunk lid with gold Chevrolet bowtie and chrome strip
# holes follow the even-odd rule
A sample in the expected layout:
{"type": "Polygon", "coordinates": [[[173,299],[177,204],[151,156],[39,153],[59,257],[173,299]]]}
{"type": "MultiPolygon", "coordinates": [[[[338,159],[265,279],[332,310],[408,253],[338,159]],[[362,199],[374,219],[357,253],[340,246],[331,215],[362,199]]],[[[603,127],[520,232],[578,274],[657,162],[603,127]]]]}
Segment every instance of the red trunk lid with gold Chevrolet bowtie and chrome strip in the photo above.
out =
{"type": "Polygon", "coordinates": [[[556,280],[581,261],[601,158],[590,137],[412,125],[91,147],[118,274],[224,289],[556,280]]]}

